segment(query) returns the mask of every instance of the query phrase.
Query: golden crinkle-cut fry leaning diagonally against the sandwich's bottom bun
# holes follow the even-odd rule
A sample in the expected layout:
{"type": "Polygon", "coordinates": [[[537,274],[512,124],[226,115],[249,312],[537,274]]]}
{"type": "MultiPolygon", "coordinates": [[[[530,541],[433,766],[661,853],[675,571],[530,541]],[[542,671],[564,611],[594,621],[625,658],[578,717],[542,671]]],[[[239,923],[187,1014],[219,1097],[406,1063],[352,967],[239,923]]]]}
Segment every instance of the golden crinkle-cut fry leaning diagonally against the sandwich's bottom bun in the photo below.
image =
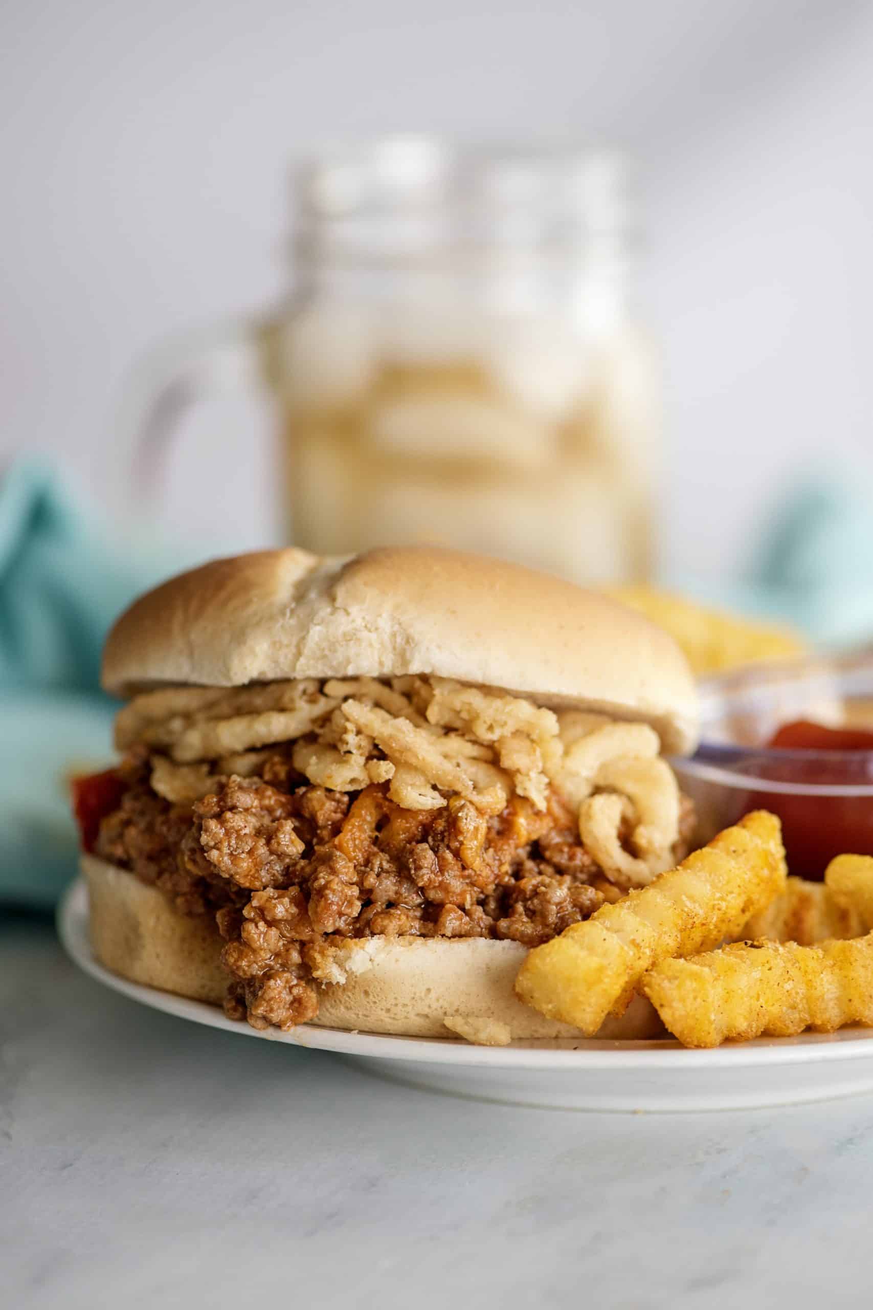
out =
{"type": "Polygon", "coordinates": [[[784,887],[779,819],[755,811],[678,869],[537,946],[518,971],[516,992],[541,1014],[593,1036],[647,969],[736,937],[784,887]]]}

